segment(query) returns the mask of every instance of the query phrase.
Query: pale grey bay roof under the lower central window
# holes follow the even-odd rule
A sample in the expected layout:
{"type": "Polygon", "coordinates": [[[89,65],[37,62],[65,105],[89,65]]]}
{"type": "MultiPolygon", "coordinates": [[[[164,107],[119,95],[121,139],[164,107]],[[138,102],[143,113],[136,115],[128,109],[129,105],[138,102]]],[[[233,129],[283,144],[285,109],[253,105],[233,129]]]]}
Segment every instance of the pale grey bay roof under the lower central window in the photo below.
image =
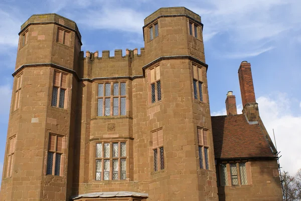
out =
{"type": "Polygon", "coordinates": [[[78,199],[81,197],[148,197],[147,193],[141,193],[141,192],[129,192],[129,191],[115,191],[115,192],[92,192],[92,193],[86,193],[86,194],[80,194],[77,196],[72,197],[72,199],[78,199]]]}

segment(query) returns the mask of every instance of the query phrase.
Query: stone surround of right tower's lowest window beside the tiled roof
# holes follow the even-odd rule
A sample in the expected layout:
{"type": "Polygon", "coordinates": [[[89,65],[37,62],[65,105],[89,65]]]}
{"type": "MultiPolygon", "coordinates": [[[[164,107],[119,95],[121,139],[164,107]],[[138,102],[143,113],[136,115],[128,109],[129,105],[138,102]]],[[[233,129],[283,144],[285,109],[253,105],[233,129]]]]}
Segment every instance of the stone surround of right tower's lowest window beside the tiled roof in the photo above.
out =
{"type": "MultiPolygon", "coordinates": [[[[210,137],[209,137],[209,130],[206,129],[206,128],[203,128],[203,127],[197,127],[197,139],[198,139],[198,151],[199,151],[199,148],[202,149],[202,159],[203,159],[203,167],[200,166],[201,169],[206,169],[206,170],[211,170],[212,167],[210,166],[210,137]],[[199,131],[201,133],[199,133],[199,131]],[[205,140],[204,138],[204,131],[206,131],[206,138],[207,140],[205,140]],[[201,141],[201,142],[200,142],[201,141]],[[207,142],[206,142],[207,141],[207,142]],[[207,148],[207,157],[208,157],[208,162],[206,163],[206,160],[205,160],[205,148],[207,148]],[[206,168],[206,166],[208,165],[208,169],[206,168]]],[[[200,160],[200,158],[199,158],[200,160]]],[[[200,163],[199,163],[200,165],[200,163]]]]}

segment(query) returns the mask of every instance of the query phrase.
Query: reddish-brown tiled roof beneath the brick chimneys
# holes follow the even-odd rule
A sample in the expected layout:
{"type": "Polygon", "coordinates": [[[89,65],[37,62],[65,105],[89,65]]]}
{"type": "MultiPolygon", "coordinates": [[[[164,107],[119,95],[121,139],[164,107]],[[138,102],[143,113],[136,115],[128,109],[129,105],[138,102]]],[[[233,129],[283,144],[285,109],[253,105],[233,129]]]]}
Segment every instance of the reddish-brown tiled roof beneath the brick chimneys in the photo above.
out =
{"type": "Polygon", "coordinates": [[[273,157],[259,124],[244,114],[212,116],[215,158],[273,157]]]}

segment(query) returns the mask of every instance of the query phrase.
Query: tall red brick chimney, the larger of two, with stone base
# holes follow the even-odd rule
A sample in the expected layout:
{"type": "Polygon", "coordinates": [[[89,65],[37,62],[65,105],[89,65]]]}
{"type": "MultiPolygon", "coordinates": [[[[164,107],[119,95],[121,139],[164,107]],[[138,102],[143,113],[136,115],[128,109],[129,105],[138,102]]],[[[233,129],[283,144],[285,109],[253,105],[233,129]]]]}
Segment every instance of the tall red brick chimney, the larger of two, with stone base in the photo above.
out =
{"type": "Polygon", "coordinates": [[[258,104],[255,99],[251,64],[247,61],[241,62],[238,69],[241,100],[244,113],[249,121],[256,121],[259,118],[258,104]]]}

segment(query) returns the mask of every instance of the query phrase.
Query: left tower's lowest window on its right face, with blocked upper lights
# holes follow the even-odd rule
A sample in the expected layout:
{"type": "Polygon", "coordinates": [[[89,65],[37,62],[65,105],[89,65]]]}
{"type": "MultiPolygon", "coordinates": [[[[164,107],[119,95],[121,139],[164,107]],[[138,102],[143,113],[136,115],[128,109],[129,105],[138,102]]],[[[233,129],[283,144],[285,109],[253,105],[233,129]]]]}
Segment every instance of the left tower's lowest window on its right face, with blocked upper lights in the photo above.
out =
{"type": "Polygon", "coordinates": [[[46,174],[61,175],[61,159],[63,154],[63,137],[49,135],[46,174]]]}

